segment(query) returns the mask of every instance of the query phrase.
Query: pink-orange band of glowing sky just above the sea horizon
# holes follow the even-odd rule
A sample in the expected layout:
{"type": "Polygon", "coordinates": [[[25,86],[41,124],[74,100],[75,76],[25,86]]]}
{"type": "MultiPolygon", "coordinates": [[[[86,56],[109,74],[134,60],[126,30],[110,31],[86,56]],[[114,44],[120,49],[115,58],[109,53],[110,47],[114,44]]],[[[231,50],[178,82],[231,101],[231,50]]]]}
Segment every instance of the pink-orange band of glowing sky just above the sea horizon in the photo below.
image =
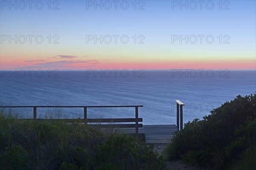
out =
{"type": "MultiPolygon", "coordinates": [[[[92,69],[241,69],[255,70],[256,63],[253,59],[234,59],[234,60],[205,60],[205,61],[146,61],[146,62],[111,62],[111,61],[96,61],[87,60],[86,62],[71,62],[64,60],[63,64],[38,65],[37,61],[25,62],[1,60],[1,69],[15,68],[32,68],[32,69],[59,69],[59,70],[85,70],[92,69]]],[[[54,62],[58,62],[54,59],[54,62]]]]}

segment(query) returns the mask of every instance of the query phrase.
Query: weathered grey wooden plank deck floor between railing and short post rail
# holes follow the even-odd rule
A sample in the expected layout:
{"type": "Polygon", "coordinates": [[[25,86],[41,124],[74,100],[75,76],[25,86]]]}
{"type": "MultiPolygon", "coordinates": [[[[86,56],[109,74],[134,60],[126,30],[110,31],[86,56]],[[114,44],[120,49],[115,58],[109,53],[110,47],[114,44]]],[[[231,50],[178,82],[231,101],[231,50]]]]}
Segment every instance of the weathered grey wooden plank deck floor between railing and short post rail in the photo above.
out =
{"type": "MultiPolygon", "coordinates": [[[[147,144],[170,143],[173,133],[177,130],[176,125],[143,125],[139,128],[139,134],[145,134],[147,144]]],[[[122,128],[122,133],[135,133],[135,128],[122,128]]]]}

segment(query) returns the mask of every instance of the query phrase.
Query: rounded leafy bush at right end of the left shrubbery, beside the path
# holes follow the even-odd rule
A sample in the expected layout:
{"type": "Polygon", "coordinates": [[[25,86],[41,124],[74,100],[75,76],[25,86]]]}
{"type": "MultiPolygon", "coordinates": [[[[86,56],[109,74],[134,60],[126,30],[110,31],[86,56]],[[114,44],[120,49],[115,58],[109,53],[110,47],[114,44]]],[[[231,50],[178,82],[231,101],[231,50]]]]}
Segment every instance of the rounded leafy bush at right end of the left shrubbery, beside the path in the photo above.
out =
{"type": "Polygon", "coordinates": [[[125,136],[112,134],[98,147],[99,166],[95,170],[108,169],[110,162],[113,164],[111,170],[161,170],[166,167],[163,157],[156,159],[153,145],[148,147],[145,143],[137,143],[132,136],[125,136]]]}

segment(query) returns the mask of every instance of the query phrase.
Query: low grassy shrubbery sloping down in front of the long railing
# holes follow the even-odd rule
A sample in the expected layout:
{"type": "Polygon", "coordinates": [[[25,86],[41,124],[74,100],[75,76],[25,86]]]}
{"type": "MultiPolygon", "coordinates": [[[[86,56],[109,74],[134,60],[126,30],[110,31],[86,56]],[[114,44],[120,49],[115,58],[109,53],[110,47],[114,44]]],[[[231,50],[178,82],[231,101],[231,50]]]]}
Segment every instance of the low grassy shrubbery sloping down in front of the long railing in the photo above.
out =
{"type": "Polygon", "coordinates": [[[0,116],[0,169],[162,170],[152,146],[88,125],[0,116]]]}

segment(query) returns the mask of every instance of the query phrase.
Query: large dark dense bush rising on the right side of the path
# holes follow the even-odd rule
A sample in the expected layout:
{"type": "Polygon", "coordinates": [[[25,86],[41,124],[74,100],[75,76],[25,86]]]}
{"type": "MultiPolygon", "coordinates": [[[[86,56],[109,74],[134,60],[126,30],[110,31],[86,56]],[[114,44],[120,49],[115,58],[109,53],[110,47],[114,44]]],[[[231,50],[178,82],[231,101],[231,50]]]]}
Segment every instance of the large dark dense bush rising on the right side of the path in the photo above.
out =
{"type": "Polygon", "coordinates": [[[255,118],[256,95],[239,95],[203,120],[194,119],[177,131],[166,149],[168,159],[182,158],[190,164],[225,169],[249,148],[255,150],[255,118]]]}

